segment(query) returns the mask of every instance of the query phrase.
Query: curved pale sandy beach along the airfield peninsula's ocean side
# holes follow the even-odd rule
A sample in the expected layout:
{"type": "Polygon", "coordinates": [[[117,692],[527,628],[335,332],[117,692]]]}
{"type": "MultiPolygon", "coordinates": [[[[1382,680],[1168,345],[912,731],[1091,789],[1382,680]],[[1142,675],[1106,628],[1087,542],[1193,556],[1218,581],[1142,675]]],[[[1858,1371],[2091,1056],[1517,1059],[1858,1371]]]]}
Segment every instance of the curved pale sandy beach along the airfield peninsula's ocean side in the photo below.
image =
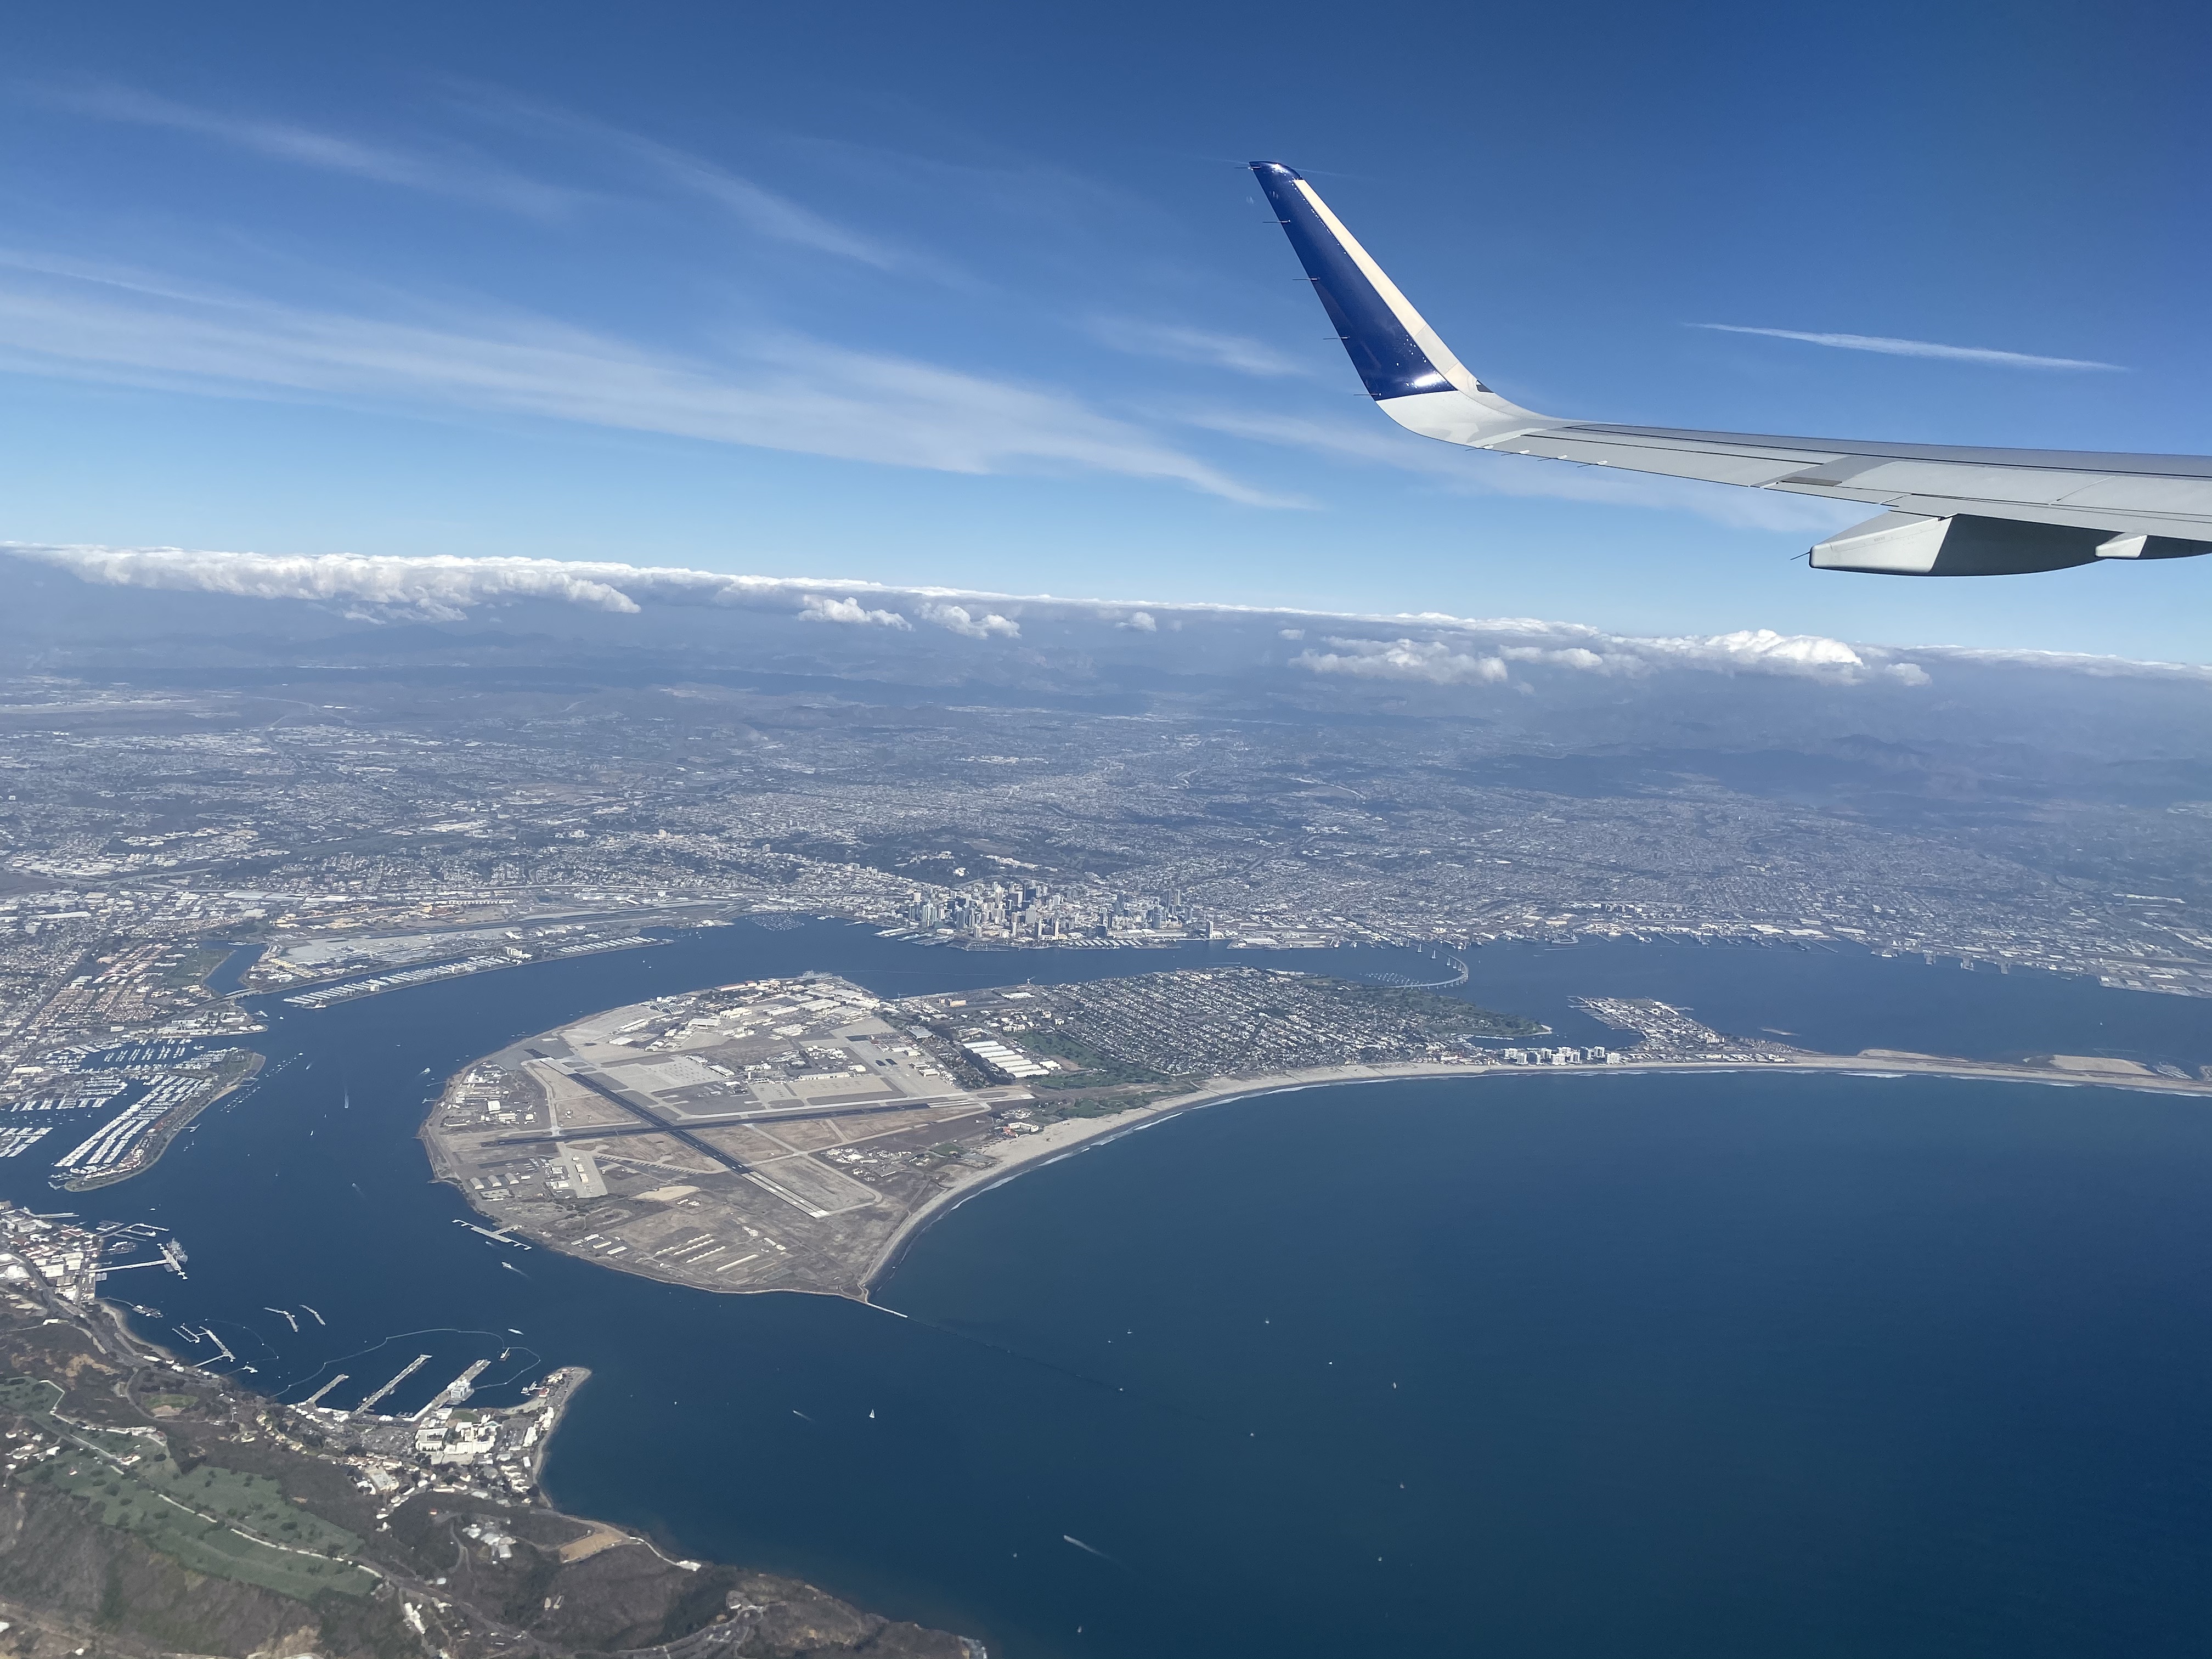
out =
{"type": "MultiPolygon", "coordinates": [[[[1856,1055],[1796,1053],[1783,1062],[1759,1060],[1624,1060],[1606,1066],[1469,1066],[1467,1062],[1409,1062],[1396,1066],[1316,1066],[1310,1071],[1274,1073],[1265,1077],[1208,1079],[1199,1088],[1168,1099],[1137,1106],[1113,1117],[1064,1117],[1046,1124],[1035,1135],[998,1152],[989,1170],[975,1170],[969,1179],[949,1186],[938,1197],[918,1206],[876,1252],[860,1281],[858,1301],[880,1307],[876,1290],[898,1267],[900,1259],[929,1230],[931,1223],[958,1210],[969,1199],[989,1192],[1004,1181],[1026,1175],[1044,1164],[1073,1157],[1088,1146],[1104,1144],[1117,1135],[1148,1128],[1168,1117],[1192,1113],[1203,1106],[1225,1106],[1232,1099],[1256,1099],[1261,1095],[1287,1095],[1301,1088],[1327,1088],[1334,1084],[1380,1084],[1411,1077],[1619,1077],[1632,1073],[1792,1073],[1827,1071],[1858,1073],[1865,1077],[1962,1077],[1980,1082],[2044,1084],[2055,1088],[2132,1088],[2154,1095],[2199,1095],[2212,1099],[2212,1082],[2185,1077],[2161,1077],[2157,1073],[2093,1073],[2059,1071],[2055,1066],[2024,1066],[2004,1060],[1958,1060],[1949,1055],[1916,1055],[1889,1048],[1867,1048],[1856,1055]]],[[[998,1150],[998,1148],[993,1148],[998,1150]]],[[[759,1294],[759,1292],[754,1292],[759,1294]]],[[[896,1314],[896,1307],[883,1312],[896,1314]]]]}

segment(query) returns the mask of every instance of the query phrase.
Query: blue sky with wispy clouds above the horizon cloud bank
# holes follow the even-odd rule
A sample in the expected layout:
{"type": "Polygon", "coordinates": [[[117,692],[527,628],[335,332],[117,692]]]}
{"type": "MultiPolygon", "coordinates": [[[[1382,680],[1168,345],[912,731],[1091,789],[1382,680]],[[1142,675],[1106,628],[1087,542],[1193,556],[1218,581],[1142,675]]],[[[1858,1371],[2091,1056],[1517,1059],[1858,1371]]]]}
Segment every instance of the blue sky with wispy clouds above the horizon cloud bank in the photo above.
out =
{"type": "Polygon", "coordinates": [[[2179,4],[51,7],[0,84],[0,540],[2203,661],[2212,560],[1812,573],[1871,509],[1396,431],[1241,164],[1305,170],[1537,409],[2208,453],[2208,35],[2179,4]]]}

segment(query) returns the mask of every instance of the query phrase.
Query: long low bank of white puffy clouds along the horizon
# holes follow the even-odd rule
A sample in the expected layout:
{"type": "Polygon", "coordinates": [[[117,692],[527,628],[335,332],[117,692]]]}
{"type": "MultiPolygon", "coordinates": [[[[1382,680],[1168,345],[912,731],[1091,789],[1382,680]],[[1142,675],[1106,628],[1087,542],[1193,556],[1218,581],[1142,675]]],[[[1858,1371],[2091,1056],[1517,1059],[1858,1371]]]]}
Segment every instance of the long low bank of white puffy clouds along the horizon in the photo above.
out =
{"type": "Polygon", "coordinates": [[[1865,646],[1745,628],[1721,635],[1613,635],[1528,617],[1358,617],[1259,606],[1048,599],[876,582],[768,577],[524,557],[219,553],[175,546],[0,544],[84,582],[241,599],[292,599],[363,619],[460,622],[515,602],[604,615],[741,608],[880,637],[945,637],[993,650],[1020,641],[1121,655],[1199,653],[1208,672],[1292,670],[1340,681],[1528,688],[1548,677],[1635,681],[1670,670],[1785,677],[1825,686],[1924,686],[1944,664],[2020,666],[2212,686],[2212,668],[2033,650],[1865,646]],[[1119,641],[1119,644],[1115,644],[1119,641]]]}

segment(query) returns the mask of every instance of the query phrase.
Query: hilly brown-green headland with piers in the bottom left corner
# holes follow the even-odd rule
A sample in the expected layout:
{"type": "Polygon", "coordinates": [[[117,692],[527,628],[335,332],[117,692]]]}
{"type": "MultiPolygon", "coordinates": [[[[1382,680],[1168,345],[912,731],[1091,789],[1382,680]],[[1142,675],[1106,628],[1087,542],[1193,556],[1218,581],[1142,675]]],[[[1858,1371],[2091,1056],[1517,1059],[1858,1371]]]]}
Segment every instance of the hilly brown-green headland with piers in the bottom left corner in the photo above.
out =
{"type": "Polygon", "coordinates": [[[119,1239],[0,1203],[0,1632],[18,1659],[982,1659],[553,1509],[538,1467],[580,1369],[482,1407],[478,1365],[398,1418],[374,1411],[387,1389],[279,1405],[150,1349],[100,1303],[119,1239]]]}

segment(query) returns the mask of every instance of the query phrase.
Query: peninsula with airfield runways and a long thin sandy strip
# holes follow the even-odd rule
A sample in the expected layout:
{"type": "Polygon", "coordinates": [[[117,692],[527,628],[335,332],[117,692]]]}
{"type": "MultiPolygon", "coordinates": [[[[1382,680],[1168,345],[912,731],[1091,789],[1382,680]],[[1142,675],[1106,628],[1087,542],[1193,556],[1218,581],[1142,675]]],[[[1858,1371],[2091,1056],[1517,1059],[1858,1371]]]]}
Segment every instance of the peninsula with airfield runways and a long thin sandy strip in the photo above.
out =
{"type": "Polygon", "coordinates": [[[1630,1048],[1420,987],[1183,969],[883,1000],[810,973],[588,1015],[449,1079],[436,1175],[502,1234],[717,1292],[867,1301],[933,1217],[1020,1168],[1170,1113],[1420,1075],[1796,1066],[2212,1095],[2124,1060],[1818,1055],[1652,1000],[1582,1006],[1630,1048]]]}

